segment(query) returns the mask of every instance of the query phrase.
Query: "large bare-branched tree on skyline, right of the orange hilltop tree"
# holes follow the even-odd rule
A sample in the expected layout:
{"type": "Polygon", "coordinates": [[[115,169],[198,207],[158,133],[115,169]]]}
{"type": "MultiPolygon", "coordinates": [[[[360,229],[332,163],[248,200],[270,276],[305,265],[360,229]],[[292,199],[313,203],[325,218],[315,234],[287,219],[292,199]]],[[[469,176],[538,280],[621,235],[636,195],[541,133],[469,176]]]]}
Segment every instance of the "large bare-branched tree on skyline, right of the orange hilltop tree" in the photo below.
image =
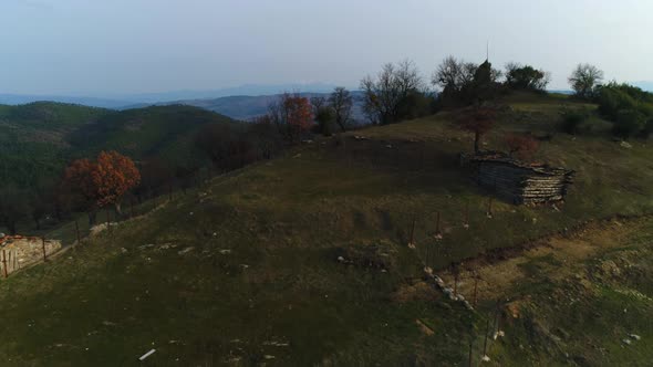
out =
{"type": "Polygon", "coordinates": [[[361,81],[364,93],[363,109],[374,124],[392,124],[402,119],[401,107],[413,93],[421,93],[423,81],[415,64],[402,61],[397,65],[387,63],[379,75],[361,81]]]}

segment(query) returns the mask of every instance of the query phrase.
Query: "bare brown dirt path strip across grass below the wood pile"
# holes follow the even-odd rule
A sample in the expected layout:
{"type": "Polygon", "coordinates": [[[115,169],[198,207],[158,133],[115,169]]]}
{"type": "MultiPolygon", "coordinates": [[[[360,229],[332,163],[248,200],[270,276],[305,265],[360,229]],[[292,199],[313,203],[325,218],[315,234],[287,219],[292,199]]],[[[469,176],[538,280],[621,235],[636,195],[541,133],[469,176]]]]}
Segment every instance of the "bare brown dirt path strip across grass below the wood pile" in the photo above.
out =
{"type": "MultiPolygon", "coordinates": [[[[538,241],[527,250],[516,251],[508,259],[489,261],[480,258],[460,265],[458,293],[467,300],[474,297],[475,276],[478,274],[477,296],[480,301],[494,301],[510,295],[510,291],[530,277],[542,275],[561,280],[574,274],[581,262],[601,251],[623,245],[632,233],[642,229],[652,218],[611,220],[591,223],[573,233],[554,235],[538,241]],[[579,264],[574,266],[574,264],[579,264]]],[[[438,274],[453,287],[452,272],[438,274]]]]}

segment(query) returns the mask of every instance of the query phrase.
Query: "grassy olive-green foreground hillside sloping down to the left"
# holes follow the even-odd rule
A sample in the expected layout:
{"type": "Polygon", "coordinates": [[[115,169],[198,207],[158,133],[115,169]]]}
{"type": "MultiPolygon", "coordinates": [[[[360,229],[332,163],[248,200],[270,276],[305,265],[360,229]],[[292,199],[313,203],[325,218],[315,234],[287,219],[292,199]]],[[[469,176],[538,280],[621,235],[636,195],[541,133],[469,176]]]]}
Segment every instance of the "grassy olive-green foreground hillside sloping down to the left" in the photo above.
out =
{"type": "Polygon", "coordinates": [[[541,137],[537,160],[577,171],[564,203],[494,200],[488,216],[458,162],[473,145],[458,111],[318,140],[1,282],[0,352],[48,366],[137,365],[152,348],[157,366],[460,366],[470,340],[479,361],[501,300],[490,365],[645,365],[653,147],[613,141],[594,105],[505,103],[486,148],[506,132],[541,137]],[[583,135],[557,133],[564,109],[592,114],[583,135]],[[465,266],[485,274],[475,311],[424,276],[450,281],[459,262],[468,298],[465,266]]]}

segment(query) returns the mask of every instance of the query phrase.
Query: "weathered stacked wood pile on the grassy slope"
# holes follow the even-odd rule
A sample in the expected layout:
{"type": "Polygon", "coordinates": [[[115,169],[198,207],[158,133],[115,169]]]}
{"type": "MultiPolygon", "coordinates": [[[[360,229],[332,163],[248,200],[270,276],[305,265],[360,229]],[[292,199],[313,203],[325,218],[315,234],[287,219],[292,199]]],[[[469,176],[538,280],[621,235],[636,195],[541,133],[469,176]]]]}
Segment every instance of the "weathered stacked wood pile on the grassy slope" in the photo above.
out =
{"type": "Polygon", "coordinates": [[[574,171],[547,165],[526,164],[501,153],[466,157],[478,184],[514,203],[546,203],[564,199],[574,171]]]}

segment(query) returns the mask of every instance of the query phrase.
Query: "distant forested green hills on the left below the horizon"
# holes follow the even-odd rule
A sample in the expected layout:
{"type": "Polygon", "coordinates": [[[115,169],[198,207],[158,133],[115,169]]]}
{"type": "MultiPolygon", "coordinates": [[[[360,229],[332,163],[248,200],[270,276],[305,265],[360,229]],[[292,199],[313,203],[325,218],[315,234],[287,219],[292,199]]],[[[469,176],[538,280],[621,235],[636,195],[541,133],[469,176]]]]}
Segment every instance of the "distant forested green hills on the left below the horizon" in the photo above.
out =
{"type": "Polygon", "coordinates": [[[190,106],[125,112],[60,103],[0,105],[0,172],[20,187],[59,177],[73,158],[117,149],[136,158],[197,159],[191,139],[205,124],[232,119],[190,106]]]}

